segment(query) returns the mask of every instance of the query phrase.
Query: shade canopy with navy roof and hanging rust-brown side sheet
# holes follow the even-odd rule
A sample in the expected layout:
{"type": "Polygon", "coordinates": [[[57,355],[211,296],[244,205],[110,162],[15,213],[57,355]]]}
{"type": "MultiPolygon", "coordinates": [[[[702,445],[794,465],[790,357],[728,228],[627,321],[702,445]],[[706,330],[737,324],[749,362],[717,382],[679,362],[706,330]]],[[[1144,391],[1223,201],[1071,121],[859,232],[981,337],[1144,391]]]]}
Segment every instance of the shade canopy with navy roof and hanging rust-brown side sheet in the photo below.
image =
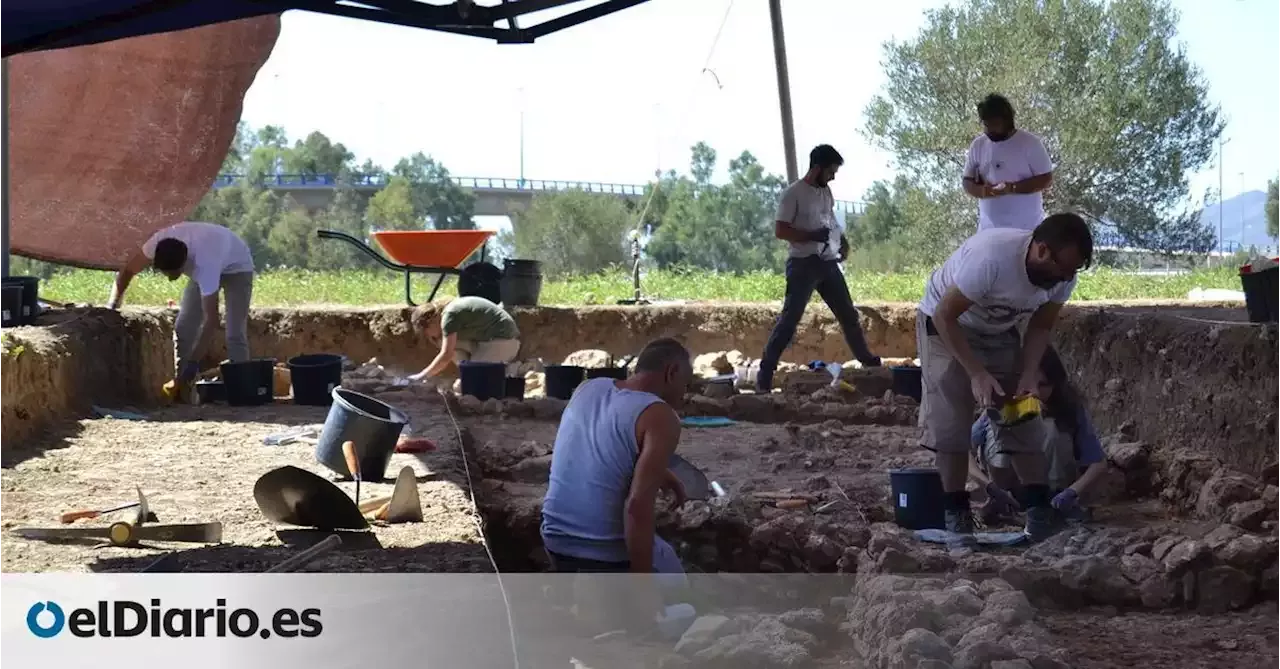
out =
{"type": "Polygon", "coordinates": [[[10,92],[0,104],[0,275],[10,251],[118,269],[183,220],[227,153],[283,12],[530,43],[646,0],[489,1],[0,0],[0,58],[19,56],[0,68],[10,92]]]}

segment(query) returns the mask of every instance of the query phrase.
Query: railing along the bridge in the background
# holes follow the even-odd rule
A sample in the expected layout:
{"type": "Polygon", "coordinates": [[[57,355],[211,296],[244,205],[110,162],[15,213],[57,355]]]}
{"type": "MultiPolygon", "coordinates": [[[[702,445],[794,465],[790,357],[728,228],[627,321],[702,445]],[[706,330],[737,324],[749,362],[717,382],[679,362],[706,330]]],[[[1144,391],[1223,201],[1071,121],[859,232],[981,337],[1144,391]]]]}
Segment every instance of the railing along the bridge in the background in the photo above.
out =
{"type": "MultiPolygon", "coordinates": [[[[214,179],[214,188],[227,188],[243,180],[241,174],[220,174],[214,179]]],[[[451,177],[453,183],[472,191],[534,191],[534,192],[559,192],[559,191],[586,191],[589,193],[613,194],[621,197],[643,197],[648,184],[628,183],[603,183],[603,182],[564,182],[548,179],[520,179],[503,177],[451,177]]],[[[266,188],[337,188],[347,185],[351,188],[383,188],[388,177],[379,174],[270,174],[262,178],[266,188]]],[[[842,214],[861,214],[867,205],[847,200],[837,200],[836,210],[842,214]]]]}

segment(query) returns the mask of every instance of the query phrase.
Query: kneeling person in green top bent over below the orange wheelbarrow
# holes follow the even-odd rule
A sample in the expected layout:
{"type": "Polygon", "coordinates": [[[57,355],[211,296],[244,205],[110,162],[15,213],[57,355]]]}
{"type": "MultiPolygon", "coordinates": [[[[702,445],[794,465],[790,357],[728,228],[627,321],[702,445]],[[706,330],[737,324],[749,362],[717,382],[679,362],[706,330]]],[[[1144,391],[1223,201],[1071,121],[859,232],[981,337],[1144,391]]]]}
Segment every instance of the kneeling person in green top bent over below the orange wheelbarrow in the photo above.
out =
{"type": "Polygon", "coordinates": [[[422,381],[445,370],[451,362],[509,363],[520,354],[520,329],[507,310],[483,297],[467,295],[449,302],[439,322],[424,327],[428,339],[440,339],[440,352],[410,380],[422,381]]]}

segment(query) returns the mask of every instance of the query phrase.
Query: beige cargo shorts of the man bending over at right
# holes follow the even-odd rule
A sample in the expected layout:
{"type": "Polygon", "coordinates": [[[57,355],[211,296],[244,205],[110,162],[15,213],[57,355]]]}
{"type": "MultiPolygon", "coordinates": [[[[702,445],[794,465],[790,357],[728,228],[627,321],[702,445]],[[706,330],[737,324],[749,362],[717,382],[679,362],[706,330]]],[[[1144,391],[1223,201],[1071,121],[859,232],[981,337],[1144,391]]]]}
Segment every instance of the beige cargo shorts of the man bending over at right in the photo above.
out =
{"type": "MultiPolygon", "coordinates": [[[[1016,329],[998,335],[965,330],[965,338],[983,367],[996,377],[1005,393],[1018,386],[1021,335],[1016,329]]],[[[920,356],[920,445],[940,453],[968,453],[977,420],[977,403],[969,372],[951,354],[923,311],[915,315],[915,348],[920,356]]],[[[1044,448],[1044,425],[1039,420],[1016,427],[988,430],[992,449],[1001,453],[1038,452],[1044,448]]]]}

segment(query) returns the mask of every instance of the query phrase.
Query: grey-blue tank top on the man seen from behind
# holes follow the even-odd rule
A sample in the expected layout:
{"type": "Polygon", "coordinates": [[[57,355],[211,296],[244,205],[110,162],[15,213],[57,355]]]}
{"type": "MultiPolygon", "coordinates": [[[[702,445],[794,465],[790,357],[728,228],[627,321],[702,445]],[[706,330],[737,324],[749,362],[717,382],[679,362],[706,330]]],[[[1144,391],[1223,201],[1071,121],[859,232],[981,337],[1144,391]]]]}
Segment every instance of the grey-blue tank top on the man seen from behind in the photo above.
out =
{"type": "Polygon", "coordinates": [[[556,432],[550,485],[543,499],[547,550],[589,560],[625,562],[623,507],[640,446],[636,418],[662,402],[593,379],[573,393],[556,432]]]}

